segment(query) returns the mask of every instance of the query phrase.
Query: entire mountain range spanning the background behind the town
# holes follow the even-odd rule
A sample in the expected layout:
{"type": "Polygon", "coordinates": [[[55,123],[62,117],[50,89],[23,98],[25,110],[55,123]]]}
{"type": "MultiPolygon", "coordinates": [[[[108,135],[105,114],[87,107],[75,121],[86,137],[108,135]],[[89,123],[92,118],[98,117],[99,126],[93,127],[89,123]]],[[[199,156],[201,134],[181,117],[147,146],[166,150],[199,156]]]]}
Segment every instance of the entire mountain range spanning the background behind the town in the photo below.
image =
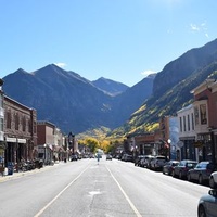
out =
{"type": "Polygon", "coordinates": [[[176,115],[207,77],[217,78],[217,39],[187,51],[132,87],[106,78],[90,81],[50,64],[5,76],[3,90],[36,108],[39,120],[52,122],[66,133],[105,127],[120,136],[149,131],[161,116],[176,115]]]}

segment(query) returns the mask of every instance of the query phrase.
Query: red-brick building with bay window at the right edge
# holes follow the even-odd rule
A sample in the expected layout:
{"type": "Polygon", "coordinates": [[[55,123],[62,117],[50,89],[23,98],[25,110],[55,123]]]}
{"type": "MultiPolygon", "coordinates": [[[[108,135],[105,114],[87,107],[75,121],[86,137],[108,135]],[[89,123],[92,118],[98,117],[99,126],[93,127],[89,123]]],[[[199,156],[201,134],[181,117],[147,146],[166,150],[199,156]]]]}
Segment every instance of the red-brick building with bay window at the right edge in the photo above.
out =
{"type": "Polygon", "coordinates": [[[206,79],[192,93],[200,161],[217,163],[217,82],[206,79]]]}

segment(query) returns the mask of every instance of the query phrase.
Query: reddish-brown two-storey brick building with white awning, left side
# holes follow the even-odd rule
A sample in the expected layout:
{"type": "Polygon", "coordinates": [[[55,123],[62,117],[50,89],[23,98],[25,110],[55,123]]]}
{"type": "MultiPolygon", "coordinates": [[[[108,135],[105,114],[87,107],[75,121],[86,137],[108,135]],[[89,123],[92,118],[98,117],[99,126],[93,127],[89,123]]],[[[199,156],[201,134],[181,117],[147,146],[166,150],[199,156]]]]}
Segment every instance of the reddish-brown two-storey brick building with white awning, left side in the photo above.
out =
{"type": "Polygon", "coordinates": [[[37,113],[4,95],[5,165],[21,159],[31,161],[37,156],[37,113]]]}

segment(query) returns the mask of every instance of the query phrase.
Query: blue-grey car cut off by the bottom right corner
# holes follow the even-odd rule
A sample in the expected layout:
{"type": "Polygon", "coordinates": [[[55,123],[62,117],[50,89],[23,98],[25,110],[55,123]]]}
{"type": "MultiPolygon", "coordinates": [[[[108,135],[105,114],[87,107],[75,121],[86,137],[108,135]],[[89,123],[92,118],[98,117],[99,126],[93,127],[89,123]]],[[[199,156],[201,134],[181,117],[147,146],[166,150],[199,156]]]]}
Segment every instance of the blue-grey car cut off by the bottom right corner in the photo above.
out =
{"type": "Polygon", "coordinates": [[[217,217],[217,190],[208,191],[203,195],[197,205],[197,217],[217,217]]]}

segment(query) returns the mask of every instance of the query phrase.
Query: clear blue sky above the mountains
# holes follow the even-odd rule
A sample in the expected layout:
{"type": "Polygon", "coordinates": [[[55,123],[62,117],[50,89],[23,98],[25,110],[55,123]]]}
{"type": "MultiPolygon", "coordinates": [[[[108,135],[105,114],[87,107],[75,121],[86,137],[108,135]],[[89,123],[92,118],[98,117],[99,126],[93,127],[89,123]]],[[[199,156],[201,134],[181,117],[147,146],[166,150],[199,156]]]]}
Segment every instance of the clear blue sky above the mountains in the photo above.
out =
{"type": "Polygon", "coordinates": [[[55,63],[133,86],[217,38],[216,0],[0,0],[0,77],[55,63]]]}

